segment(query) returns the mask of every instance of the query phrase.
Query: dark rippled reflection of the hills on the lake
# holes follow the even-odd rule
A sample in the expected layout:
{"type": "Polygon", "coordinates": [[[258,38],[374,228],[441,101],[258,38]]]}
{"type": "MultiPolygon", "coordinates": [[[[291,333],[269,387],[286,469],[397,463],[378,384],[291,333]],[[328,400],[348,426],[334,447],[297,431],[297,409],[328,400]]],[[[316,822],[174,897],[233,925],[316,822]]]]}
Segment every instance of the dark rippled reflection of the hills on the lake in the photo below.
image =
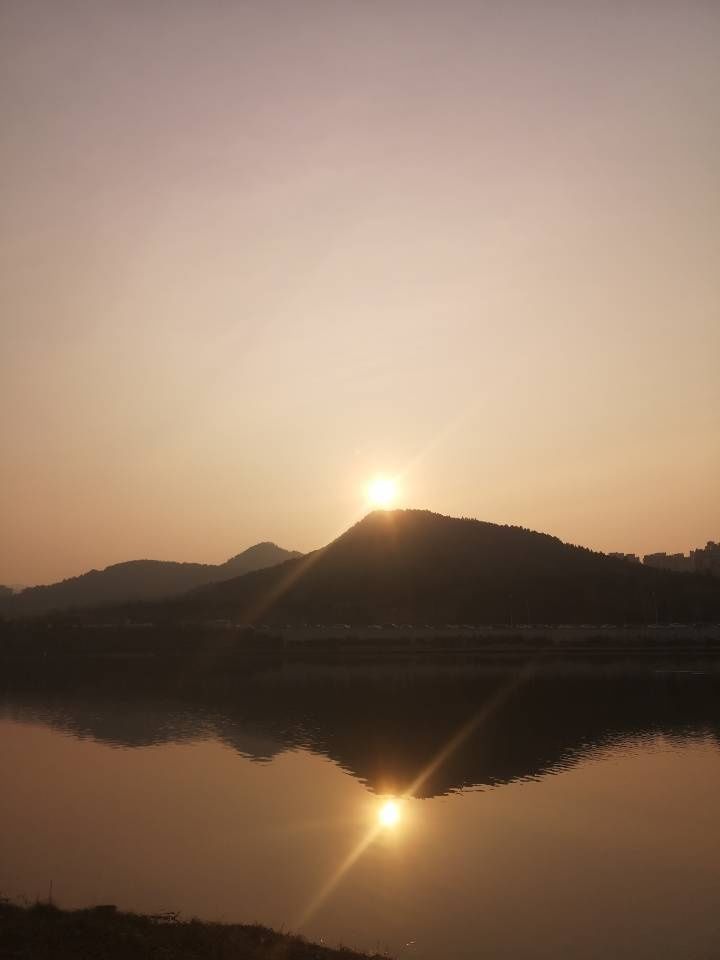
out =
{"type": "Polygon", "coordinates": [[[716,662],[683,659],[119,660],[15,664],[0,705],[116,747],[215,739],[257,762],[303,747],[375,793],[432,797],[539,778],[628,738],[717,739],[718,692],[716,662]]]}

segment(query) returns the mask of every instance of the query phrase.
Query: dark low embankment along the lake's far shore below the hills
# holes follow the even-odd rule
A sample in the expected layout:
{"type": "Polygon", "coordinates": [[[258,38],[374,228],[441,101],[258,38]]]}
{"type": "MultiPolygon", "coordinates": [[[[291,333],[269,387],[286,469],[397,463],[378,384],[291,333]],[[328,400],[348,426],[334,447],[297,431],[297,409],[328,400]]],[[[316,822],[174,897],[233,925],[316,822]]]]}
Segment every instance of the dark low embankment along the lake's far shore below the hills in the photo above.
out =
{"type": "Polygon", "coordinates": [[[0,661],[77,658],[358,660],[719,656],[720,624],[299,628],[218,624],[0,624],[0,661]]]}

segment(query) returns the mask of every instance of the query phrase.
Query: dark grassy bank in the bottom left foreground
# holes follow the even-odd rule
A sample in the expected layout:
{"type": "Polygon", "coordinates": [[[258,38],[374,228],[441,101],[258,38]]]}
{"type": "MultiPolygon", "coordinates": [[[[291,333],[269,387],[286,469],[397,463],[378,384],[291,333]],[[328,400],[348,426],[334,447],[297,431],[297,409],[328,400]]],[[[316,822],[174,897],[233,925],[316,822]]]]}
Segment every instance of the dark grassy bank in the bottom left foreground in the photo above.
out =
{"type": "Polygon", "coordinates": [[[267,927],[0,901],[3,960],[383,960],[267,927]]]}

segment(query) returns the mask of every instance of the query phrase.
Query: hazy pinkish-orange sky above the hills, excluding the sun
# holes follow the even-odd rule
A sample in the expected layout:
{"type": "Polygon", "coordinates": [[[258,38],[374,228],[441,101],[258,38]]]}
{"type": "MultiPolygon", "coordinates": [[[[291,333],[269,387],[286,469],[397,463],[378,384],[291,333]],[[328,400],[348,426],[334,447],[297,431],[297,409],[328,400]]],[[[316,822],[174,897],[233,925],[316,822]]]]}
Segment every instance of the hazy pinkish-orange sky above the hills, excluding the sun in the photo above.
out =
{"type": "Polygon", "coordinates": [[[720,538],[716,0],[3,0],[0,583],[400,505],[720,538]]]}

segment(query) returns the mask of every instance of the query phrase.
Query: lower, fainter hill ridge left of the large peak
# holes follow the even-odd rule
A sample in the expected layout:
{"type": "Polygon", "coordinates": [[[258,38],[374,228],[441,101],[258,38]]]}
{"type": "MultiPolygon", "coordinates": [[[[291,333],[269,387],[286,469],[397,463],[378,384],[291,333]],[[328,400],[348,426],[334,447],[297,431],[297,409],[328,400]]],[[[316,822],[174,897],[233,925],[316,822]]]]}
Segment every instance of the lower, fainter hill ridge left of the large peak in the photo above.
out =
{"type": "Polygon", "coordinates": [[[174,563],[130,560],[104,570],[90,570],[47,586],[27,587],[20,593],[2,593],[8,616],[33,616],[54,610],[124,604],[170,597],[203,584],[240,577],[302,556],[274,543],[256,543],[225,563],[174,563]]]}

